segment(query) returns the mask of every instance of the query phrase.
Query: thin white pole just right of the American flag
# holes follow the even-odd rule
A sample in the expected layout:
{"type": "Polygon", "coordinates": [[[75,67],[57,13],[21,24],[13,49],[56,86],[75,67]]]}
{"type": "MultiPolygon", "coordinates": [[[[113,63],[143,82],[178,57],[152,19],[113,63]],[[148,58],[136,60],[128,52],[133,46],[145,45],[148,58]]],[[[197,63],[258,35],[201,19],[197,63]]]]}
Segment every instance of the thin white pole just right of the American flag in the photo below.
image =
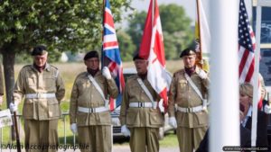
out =
{"type": "Polygon", "coordinates": [[[260,33],[261,33],[261,21],[262,21],[262,7],[257,1],[257,18],[256,18],[256,49],[255,49],[255,67],[253,74],[253,103],[252,103],[252,125],[251,125],[251,146],[256,146],[257,139],[257,103],[258,103],[258,89],[259,85],[259,52],[260,52],[260,33]]]}

